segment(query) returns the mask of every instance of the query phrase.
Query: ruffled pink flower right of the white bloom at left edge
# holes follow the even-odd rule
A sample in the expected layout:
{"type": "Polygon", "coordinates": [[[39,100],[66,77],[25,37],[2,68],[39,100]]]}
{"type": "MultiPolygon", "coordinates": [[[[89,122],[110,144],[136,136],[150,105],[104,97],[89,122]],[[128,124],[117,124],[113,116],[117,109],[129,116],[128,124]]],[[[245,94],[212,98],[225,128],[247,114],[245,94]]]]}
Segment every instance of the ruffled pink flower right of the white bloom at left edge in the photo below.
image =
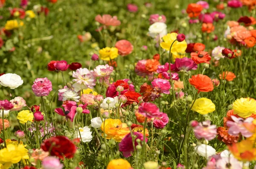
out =
{"type": "Polygon", "coordinates": [[[52,82],[47,78],[37,78],[32,85],[32,91],[36,96],[48,96],[52,91],[52,82]]]}

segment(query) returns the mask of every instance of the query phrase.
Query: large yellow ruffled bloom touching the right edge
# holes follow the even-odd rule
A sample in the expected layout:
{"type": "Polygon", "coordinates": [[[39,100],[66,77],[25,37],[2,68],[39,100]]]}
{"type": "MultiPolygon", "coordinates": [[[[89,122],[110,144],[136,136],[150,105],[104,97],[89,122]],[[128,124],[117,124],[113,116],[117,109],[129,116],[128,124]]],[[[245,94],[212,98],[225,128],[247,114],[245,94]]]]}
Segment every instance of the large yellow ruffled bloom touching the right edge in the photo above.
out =
{"type": "Polygon", "coordinates": [[[235,115],[243,118],[256,114],[256,100],[250,97],[236,99],[233,103],[233,110],[235,115]]]}

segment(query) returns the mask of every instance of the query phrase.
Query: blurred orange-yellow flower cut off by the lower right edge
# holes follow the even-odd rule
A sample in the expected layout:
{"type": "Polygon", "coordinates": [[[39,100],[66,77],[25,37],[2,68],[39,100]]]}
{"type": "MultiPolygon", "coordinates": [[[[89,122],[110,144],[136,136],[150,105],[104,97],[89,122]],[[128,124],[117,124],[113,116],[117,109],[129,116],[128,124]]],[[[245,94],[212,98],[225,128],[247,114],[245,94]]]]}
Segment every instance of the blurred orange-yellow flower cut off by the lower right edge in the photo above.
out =
{"type": "MultiPolygon", "coordinates": [[[[253,137],[253,136],[252,136],[253,137]]],[[[229,151],[234,157],[240,161],[256,160],[256,148],[254,147],[254,140],[246,139],[239,143],[233,143],[228,146],[229,151]]]]}

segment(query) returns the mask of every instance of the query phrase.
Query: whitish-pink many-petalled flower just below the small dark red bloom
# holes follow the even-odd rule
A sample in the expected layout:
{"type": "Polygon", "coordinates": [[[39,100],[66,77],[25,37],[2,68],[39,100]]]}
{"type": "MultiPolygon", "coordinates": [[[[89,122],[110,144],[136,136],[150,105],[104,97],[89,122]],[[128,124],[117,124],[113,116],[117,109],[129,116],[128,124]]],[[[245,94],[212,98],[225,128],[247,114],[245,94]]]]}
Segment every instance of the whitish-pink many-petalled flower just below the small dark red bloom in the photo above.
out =
{"type": "Polygon", "coordinates": [[[76,72],[73,72],[73,84],[74,90],[78,92],[81,89],[93,89],[93,86],[96,85],[95,77],[93,76],[93,71],[88,70],[87,68],[79,68],[76,72]]]}

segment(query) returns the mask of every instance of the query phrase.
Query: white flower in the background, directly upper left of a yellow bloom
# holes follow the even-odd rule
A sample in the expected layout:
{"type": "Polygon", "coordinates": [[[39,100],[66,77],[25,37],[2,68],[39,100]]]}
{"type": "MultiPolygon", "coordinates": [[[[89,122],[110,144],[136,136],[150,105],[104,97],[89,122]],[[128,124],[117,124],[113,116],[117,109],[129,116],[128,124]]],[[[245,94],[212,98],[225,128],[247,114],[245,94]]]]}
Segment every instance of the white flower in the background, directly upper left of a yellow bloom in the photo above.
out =
{"type": "Polygon", "coordinates": [[[167,34],[167,26],[163,22],[156,22],[149,26],[148,31],[149,36],[153,38],[155,38],[158,34],[160,34],[160,37],[163,37],[167,34]]]}

